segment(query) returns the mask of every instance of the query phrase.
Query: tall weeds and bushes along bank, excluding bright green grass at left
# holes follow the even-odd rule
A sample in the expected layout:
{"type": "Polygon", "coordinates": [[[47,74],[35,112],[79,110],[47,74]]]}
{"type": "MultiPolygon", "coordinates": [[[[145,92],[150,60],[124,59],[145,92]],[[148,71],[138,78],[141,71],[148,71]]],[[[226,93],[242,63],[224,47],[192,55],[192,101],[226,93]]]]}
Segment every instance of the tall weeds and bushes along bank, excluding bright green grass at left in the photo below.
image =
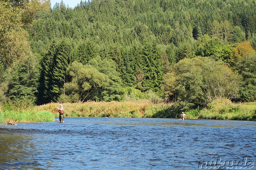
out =
{"type": "MultiPolygon", "coordinates": [[[[255,107],[248,108],[242,104],[232,103],[228,99],[212,101],[205,108],[189,109],[182,102],[152,103],[146,100],[130,102],[95,102],[64,103],[65,116],[70,117],[136,117],[136,118],[180,118],[185,111],[187,119],[218,120],[256,120],[255,107]]],[[[38,106],[40,111],[49,111],[58,117],[58,103],[38,106]]]]}

